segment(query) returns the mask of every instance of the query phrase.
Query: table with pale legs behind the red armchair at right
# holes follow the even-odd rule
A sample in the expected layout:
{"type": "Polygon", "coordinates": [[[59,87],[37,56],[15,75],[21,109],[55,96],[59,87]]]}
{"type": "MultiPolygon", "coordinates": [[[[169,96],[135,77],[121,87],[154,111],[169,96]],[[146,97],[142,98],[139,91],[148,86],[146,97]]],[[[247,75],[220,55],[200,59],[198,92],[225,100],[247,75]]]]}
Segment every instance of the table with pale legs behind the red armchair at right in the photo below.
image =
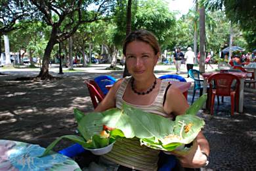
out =
{"type": "MultiPolygon", "coordinates": [[[[211,72],[211,73],[202,74],[203,75],[203,94],[206,93],[206,90],[207,90],[208,78],[215,73],[220,73],[220,72],[211,72]]],[[[238,111],[242,113],[244,108],[244,81],[245,81],[245,78],[248,77],[248,73],[238,73],[238,72],[228,72],[228,73],[236,75],[240,79],[238,111]]]]}

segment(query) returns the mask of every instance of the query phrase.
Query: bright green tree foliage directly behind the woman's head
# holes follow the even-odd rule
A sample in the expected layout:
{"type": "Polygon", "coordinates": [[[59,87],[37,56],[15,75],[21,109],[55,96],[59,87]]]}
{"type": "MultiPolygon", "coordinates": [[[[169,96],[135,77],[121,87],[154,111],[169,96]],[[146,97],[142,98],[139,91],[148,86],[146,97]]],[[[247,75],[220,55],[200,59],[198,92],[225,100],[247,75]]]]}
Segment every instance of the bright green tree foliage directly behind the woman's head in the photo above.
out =
{"type": "MultiPolygon", "coordinates": [[[[114,31],[114,43],[122,45],[125,39],[126,31],[126,6],[122,3],[117,7],[116,25],[114,31]]],[[[170,43],[175,28],[175,17],[173,12],[170,12],[165,1],[150,0],[150,1],[133,1],[132,3],[132,31],[136,29],[147,29],[152,31],[158,37],[161,47],[166,48],[170,43]]]]}

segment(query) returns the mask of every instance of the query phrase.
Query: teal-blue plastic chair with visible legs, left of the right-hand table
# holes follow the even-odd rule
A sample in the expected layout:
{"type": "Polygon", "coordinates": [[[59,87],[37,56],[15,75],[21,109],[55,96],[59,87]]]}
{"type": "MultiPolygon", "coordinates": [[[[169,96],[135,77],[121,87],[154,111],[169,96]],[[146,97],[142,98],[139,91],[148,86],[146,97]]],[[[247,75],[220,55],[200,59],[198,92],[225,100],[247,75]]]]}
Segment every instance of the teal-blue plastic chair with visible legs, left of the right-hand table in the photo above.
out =
{"type": "Polygon", "coordinates": [[[203,79],[200,79],[200,71],[196,69],[189,69],[188,75],[190,78],[194,79],[194,91],[193,91],[193,98],[192,98],[192,104],[193,104],[196,90],[200,90],[199,96],[202,96],[203,85],[201,85],[201,82],[203,83],[203,79]]]}

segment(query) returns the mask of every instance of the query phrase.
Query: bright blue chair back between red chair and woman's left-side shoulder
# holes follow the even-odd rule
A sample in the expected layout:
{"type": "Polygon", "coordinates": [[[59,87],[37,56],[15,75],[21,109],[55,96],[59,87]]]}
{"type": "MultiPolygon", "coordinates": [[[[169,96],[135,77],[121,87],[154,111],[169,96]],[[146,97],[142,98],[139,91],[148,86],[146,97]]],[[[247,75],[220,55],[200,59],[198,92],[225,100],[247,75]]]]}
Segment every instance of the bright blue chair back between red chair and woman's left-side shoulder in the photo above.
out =
{"type": "Polygon", "coordinates": [[[114,85],[114,83],[116,83],[116,79],[110,75],[100,75],[95,77],[95,82],[100,87],[100,90],[102,90],[103,94],[106,95],[108,93],[106,85],[114,85]]]}

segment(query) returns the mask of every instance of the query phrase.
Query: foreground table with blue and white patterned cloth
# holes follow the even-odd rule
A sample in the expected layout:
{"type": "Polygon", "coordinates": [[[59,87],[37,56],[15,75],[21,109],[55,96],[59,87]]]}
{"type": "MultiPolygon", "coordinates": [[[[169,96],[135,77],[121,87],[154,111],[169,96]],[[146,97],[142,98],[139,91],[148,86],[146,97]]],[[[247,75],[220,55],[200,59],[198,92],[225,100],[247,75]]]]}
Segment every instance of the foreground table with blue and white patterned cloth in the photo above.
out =
{"type": "Polygon", "coordinates": [[[39,145],[0,140],[0,170],[81,170],[72,159],[53,153],[45,157],[39,145]]]}

